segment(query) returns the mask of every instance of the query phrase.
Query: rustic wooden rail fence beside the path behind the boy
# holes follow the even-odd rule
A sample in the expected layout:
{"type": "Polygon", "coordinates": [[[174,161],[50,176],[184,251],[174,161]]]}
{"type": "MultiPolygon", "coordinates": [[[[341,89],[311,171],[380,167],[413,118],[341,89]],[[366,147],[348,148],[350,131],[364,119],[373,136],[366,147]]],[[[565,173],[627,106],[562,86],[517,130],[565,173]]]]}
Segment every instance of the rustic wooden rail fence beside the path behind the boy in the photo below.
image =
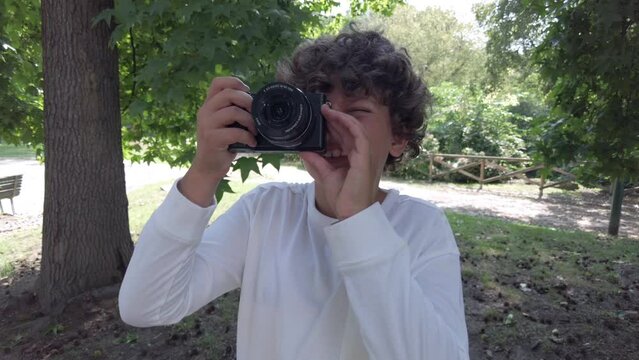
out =
{"type": "Polygon", "coordinates": [[[480,190],[484,184],[504,179],[519,178],[524,180],[526,184],[537,185],[539,187],[539,198],[541,199],[544,194],[544,189],[575,180],[575,176],[573,174],[556,167],[552,167],[550,170],[553,173],[560,174],[560,178],[558,180],[546,181],[546,177],[543,172],[539,180],[531,179],[526,174],[532,171],[544,169],[545,165],[533,164],[533,161],[527,158],[459,154],[429,154],[429,158],[428,177],[430,181],[458,173],[477,181],[479,183],[480,190]],[[460,166],[455,166],[447,162],[447,160],[450,161],[450,159],[466,159],[467,161],[460,166]],[[511,168],[504,166],[505,163],[518,164],[518,167],[515,170],[512,170],[511,168]],[[468,171],[476,167],[479,167],[479,176],[468,171]],[[486,169],[494,169],[499,175],[486,178],[486,169]]]}

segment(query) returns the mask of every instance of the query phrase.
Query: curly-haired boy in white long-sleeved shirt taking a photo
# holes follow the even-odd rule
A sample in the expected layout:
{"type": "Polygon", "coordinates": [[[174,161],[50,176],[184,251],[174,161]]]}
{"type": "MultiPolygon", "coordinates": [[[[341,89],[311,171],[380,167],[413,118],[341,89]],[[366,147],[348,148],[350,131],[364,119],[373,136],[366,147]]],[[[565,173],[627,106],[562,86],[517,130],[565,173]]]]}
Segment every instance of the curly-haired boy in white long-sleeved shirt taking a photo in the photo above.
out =
{"type": "Polygon", "coordinates": [[[302,45],[278,80],[323,92],[325,154],[301,153],[311,184],[268,184],[210,227],[234,158],[255,146],[248,87],[213,80],[191,168],[146,225],[120,291],[134,326],[180,321],[241,287],[237,358],[467,359],[459,252],[443,212],[379,188],[419,150],[428,91],[376,32],[302,45]],[[238,122],[246,129],[229,127],[238,122]]]}

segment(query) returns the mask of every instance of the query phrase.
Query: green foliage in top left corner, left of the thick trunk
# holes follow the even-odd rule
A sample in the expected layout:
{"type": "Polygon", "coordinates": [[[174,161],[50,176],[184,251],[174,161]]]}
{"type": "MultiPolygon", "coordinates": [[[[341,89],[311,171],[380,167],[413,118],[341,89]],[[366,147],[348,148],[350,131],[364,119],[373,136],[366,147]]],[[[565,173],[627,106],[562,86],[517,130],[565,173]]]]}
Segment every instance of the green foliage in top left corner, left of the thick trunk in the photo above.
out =
{"type": "Polygon", "coordinates": [[[40,1],[0,2],[0,139],[42,154],[40,1]]]}

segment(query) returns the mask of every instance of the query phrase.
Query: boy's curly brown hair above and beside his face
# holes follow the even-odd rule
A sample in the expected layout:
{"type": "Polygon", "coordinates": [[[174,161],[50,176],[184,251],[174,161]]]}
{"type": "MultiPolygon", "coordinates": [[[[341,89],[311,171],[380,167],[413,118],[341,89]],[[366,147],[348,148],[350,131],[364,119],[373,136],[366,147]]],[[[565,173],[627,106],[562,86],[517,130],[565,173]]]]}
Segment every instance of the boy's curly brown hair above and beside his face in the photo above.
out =
{"type": "MultiPolygon", "coordinates": [[[[408,140],[409,157],[419,154],[432,96],[406,49],[397,49],[380,32],[358,31],[351,25],[337,36],[301,44],[290,59],[278,64],[276,78],[303,91],[328,92],[334,76],[341,79],[347,95],[373,95],[388,106],[393,134],[408,140]]],[[[389,154],[386,167],[402,158],[403,154],[389,154]]]]}

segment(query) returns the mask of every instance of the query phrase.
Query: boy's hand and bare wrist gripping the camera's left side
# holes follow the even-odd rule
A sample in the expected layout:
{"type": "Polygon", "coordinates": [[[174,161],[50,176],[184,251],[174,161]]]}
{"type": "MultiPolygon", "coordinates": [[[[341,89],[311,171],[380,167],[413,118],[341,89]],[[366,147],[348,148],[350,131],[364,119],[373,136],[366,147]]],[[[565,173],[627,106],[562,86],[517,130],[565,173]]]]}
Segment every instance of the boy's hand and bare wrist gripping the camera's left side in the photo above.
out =
{"type": "Polygon", "coordinates": [[[250,114],[253,98],[249,87],[234,77],[213,79],[208,96],[197,113],[197,150],[179,189],[189,200],[208,206],[219,182],[229,171],[234,143],[255,146],[255,123],[250,114]],[[248,130],[229,127],[239,123],[248,130]]]}

